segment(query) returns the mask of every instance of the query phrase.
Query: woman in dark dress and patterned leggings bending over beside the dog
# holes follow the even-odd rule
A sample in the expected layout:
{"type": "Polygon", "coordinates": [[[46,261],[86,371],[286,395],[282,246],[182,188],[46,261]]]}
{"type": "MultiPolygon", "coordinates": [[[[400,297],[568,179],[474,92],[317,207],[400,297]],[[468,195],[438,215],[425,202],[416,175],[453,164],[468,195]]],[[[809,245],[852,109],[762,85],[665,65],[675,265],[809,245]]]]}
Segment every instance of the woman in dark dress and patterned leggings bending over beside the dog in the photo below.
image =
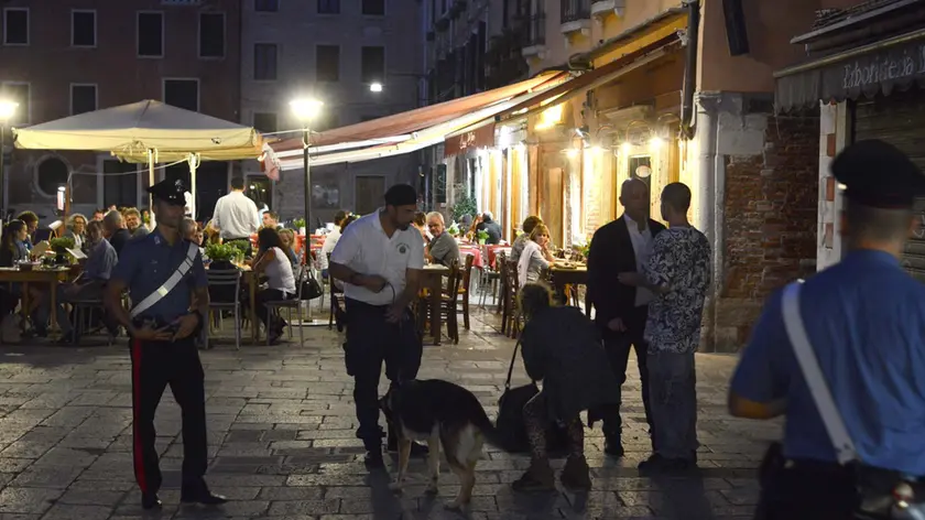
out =
{"type": "Polygon", "coordinates": [[[597,327],[580,308],[554,306],[553,292],[538,283],[525,284],[519,299],[526,317],[521,335],[523,365],[531,379],[543,382],[543,390],[523,408],[531,464],[512,487],[515,491],[555,489],[546,451],[546,432],[555,421],[565,426],[568,435],[568,461],[562,484],[568,489],[588,490],[591,479],[579,414],[619,402],[620,384],[597,327]]]}

